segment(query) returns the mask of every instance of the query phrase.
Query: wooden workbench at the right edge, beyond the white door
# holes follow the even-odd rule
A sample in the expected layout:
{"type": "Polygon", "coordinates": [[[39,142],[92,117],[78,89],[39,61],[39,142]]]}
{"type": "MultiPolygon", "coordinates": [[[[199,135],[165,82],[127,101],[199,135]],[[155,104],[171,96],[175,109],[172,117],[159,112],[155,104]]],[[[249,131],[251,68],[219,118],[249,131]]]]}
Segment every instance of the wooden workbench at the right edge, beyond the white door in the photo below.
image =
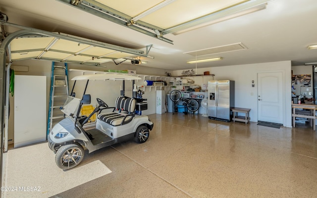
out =
{"type": "Polygon", "coordinates": [[[293,117],[293,127],[295,127],[295,118],[296,117],[301,117],[301,118],[308,118],[308,119],[312,119],[311,126],[313,125],[313,130],[316,130],[316,126],[315,126],[315,119],[317,118],[316,116],[316,109],[317,109],[317,105],[316,104],[292,104],[292,109],[293,109],[293,113],[292,113],[292,117],[293,117]],[[310,110],[310,115],[307,114],[300,114],[300,113],[296,113],[296,108],[301,108],[301,109],[309,109],[310,110]]]}

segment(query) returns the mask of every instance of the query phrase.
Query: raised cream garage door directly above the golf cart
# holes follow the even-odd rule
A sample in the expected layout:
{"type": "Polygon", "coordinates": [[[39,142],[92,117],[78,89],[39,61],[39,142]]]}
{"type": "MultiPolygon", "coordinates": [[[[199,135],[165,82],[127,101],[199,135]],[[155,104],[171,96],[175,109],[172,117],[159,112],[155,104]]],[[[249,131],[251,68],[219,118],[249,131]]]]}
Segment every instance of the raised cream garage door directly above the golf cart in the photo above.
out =
{"type": "Polygon", "coordinates": [[[11,61],[45,59],[100,65],[115,59],[131,59],[137,56],[133,53],[40,35],[18,37],[10,43],[9,49],[11,61]]]}

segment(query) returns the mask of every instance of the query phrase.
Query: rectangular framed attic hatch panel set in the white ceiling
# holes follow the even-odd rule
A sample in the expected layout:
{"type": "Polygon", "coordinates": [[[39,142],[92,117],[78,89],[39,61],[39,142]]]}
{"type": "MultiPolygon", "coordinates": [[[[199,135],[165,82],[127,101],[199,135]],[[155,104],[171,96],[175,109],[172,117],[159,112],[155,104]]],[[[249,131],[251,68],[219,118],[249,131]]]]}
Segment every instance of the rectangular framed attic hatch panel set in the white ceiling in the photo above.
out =
{"type": "Polygon", "coordinates": [[[200,49],[196,51],[189,51],[184,52],[192,56],[202,56],[202,55],[209,55],[209,54],[215,54],[215,53],[224,53],[229,51],[237,51],[237,50],[243,50],[247,49],[242,43],[237,44],[231,44],[226,46],[219,46],[214,48],[208,48],[208,49],[200,49]]]}

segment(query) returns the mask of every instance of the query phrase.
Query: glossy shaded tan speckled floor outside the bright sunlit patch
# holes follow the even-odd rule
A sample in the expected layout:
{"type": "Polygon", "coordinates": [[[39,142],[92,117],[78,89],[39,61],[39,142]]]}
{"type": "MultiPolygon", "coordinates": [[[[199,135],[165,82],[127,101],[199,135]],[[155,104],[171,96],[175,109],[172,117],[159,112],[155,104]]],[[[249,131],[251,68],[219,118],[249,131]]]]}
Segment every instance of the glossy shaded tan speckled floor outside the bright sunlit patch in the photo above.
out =
{"type": "Polygon", "coordinates": [[[81,164],[99,159],[111,173],[53,197],[317,197],[317,133],[309,126],[275,129],[183,113],[149,117],[155,125],[146,143],[103,148],[81,164]]]}

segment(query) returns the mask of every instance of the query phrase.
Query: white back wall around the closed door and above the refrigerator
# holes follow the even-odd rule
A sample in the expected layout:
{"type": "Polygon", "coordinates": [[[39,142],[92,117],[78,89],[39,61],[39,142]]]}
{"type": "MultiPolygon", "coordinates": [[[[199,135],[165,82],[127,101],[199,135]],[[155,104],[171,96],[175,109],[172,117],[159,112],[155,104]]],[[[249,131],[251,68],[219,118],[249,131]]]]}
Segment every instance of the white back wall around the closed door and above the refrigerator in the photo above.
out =
{"type": "MultiPolygon", "coordinates": [[[[174,76],[181,75],[183,70],[177,70],[172,73],[174,76]]],[[[197,69],[197,74],[203,74],[209,71],[214,74],[214,80],[233,80],[235,81],[235,106],[241,108],[251,108],[251,121],[258,121],[258,93],[257,76],[258,73],[269,71],[283,72],[283,96],[284,99],[284,126],[292,127],[291,114],[291,61],[268,62],[246,65],[232,65],[224,67],[210,67],[197,69]],[[252,87],[252,80],[255,81],[255,87],[252,87]]],[[[197,77],[196,77],[197,78],[197,77]]],[[[195,79],[196,79],[195,78],[195,79]]]]}

